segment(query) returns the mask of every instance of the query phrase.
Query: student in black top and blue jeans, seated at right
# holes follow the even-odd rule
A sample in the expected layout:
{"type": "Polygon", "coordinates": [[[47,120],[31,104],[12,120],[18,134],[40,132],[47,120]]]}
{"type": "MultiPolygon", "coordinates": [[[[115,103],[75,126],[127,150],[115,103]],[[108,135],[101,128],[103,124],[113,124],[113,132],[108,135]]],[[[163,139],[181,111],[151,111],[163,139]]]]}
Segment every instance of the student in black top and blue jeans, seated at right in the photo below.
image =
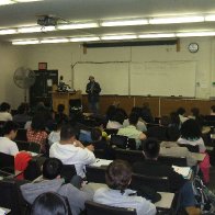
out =
{"type": "Polygon", "coordinates": [[[170,191],[181,194],[181,207],[185,208],[189,215],[200,214],[200,210],[195,207],[196,201],[192,183],[174,172],[171,167],[157,161],[160,151],[159,143],[155,138],[148,138],[144,142],[143,148],[146,160],[134,163],[133,171],[145,176],[168,177],[170,191]]]}

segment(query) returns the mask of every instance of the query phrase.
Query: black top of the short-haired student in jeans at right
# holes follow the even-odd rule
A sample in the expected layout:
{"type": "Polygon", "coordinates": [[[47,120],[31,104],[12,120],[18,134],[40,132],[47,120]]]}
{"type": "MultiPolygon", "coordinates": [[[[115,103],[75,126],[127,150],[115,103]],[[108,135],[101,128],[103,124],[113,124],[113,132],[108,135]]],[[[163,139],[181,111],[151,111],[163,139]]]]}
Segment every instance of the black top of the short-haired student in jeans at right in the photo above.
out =
{"type": "Polygon", "coordinates": [[[183,179],[181,174],[177,173],[171,167],[159,163],[157,160],[135,162],[133,165],[133,171],[145,176],[168,177],[171,192],[179,191],[186,182],[186,180],[183,179]]]}

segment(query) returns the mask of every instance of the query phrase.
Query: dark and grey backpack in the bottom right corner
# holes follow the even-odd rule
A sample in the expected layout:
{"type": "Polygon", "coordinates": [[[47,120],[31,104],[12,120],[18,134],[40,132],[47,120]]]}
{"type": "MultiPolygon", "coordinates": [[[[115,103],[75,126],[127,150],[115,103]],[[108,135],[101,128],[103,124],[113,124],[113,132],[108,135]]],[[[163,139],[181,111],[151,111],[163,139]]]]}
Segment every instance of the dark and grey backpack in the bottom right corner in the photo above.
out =
{"type": "Polygon", "coordinates": [[[193,179],[192,185],[202,214],[215,214],[215,194],[204,185],[197,176],[193,179]]]}

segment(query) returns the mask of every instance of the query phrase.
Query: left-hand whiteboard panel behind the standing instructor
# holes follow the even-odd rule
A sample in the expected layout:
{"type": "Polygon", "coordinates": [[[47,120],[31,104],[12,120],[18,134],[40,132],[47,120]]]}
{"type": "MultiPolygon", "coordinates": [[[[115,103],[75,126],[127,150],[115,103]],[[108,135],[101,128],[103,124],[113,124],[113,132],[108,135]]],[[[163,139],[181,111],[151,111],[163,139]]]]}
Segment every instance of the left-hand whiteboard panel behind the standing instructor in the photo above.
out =
{"type": "Polygon", "coordinates": [[[128,63],[84,63],[73,67],[73,88],[86,92],[89,76],[94,76],[101,86],[101,94],[127,95],[128,63]]]}

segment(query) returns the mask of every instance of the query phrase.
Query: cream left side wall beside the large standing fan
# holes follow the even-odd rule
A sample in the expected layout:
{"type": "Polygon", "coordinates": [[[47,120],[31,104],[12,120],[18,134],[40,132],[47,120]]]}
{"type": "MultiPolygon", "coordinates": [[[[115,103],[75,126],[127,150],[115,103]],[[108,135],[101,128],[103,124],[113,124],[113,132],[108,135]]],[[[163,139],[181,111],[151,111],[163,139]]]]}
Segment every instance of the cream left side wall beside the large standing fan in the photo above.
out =
{"type": "Polygon", "coordinates": [[[5,101],[16,109],[20,102],[24,101],[23,89],[18,88],[13,82],[15,69],[25,63],[25,54],[22,47],[0,43],[0,103],[5,101]]]}

